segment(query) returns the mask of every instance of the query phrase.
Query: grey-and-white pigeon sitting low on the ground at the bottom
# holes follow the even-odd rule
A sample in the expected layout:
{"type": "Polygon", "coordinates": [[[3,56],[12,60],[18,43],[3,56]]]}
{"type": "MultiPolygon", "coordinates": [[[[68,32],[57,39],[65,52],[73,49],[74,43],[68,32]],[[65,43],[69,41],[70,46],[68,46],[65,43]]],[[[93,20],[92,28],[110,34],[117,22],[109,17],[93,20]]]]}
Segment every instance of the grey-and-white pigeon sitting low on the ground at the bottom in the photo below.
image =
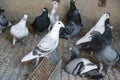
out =
{"type": "Polygon", "coordinates": [[[103,78],[99,73],[97,65],[86,58],[80,57],[78,48],[72,47],[72,56],[70,62],[66,65],[66,71],[72,75],[80,75],[82,77],[90,77],[92,79],[103,78]]]}

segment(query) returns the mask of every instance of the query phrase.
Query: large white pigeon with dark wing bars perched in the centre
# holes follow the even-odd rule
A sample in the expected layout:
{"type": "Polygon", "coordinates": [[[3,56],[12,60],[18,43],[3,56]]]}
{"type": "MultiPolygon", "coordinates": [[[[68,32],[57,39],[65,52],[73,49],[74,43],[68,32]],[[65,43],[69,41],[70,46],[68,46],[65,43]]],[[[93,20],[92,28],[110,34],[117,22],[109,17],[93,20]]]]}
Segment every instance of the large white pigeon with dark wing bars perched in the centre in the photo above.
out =
{"type": "Polygon", "coordinates": [[[42,38],[42,40],[37,44],[36,48],[28,53],[25,57],[22,58],[21,62],[26,62],[32,59],[37,59],[38,63],[40,57],[47,57],[52,51],[54,51],[59,43],[59,30],[61,27],[65,27],[61,21],[56,21],[53,25],[52,30],[42,38]]]}

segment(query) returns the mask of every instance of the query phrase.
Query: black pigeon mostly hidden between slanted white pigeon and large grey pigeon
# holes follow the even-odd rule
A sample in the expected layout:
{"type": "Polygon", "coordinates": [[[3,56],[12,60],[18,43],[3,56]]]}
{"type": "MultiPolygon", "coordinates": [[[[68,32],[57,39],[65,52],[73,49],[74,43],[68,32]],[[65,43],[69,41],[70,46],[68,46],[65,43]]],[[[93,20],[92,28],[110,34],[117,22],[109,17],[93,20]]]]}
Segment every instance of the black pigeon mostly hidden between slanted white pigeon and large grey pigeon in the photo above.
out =
{"type": "MultiPolygon", "coordinates": [[[[110,19],[106,19],[106,21],[105,21],[105,32],[102,35],[107,40],[108,44],[112,43],[111,27],[112,27],[112,25],[110,23],[110,19]]],[[[90,42],[83,44],[81,46],[81,49],[92,50],[92,47],[90,46],[90,42]]]]}

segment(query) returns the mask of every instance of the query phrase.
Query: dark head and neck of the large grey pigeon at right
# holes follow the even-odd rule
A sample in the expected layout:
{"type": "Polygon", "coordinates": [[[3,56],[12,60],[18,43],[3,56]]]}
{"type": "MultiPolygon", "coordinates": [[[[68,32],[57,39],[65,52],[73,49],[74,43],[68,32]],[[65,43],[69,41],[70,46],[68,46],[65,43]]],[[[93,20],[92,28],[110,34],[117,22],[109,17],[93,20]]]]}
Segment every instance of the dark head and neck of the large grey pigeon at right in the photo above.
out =
{"type": "Polygon", "coordinates": [[[90,35],[92,37],[90,45],[94,51],[101,51],[106,46],[108,46],[107,40],[104,38],[104,36],[100,32],[93,31],[91,32],[90,35]]]}

